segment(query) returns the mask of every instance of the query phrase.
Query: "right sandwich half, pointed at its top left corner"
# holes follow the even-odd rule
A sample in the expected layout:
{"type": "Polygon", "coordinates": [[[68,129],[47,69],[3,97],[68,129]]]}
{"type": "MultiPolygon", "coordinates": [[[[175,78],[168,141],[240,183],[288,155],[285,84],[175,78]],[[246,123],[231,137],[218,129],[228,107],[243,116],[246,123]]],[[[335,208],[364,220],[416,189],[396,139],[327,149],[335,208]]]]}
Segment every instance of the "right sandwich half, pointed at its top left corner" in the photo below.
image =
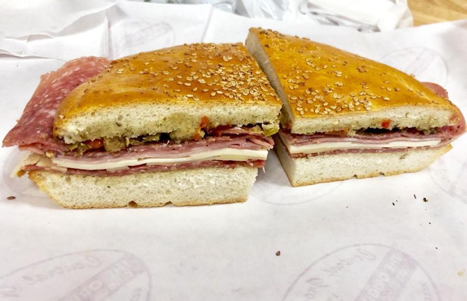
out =
{"type": "Polygon", "coordinates": [[[246,47],[284,104],[275,150],[293,186],[418,171],[465,132],[437,84],[271,30],[246,47]]]}

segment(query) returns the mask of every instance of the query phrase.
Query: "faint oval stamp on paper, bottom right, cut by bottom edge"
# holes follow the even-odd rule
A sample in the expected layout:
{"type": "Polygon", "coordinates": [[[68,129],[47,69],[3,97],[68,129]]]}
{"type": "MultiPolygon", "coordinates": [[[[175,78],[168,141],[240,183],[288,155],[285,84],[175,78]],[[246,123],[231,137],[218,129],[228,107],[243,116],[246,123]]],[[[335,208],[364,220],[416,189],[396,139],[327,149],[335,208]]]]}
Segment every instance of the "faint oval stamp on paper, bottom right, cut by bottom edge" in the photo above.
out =
{"type": "Polygon", "coordinates": [[[284,301],[440,300],[424,268],[395,248],[361,244],[328,253],[306,268],[284,301]]]}

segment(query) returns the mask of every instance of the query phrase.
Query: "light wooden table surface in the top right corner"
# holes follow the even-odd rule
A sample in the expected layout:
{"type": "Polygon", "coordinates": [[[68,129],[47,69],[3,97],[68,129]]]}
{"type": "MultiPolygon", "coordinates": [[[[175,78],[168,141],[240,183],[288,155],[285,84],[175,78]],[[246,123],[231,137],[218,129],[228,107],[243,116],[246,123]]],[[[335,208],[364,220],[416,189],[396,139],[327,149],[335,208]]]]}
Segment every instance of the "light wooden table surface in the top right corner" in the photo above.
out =
{"type": "Polygon", "coordinates": [[[467,0],[409,0],[413,25],[467,18],[467,0]]]}

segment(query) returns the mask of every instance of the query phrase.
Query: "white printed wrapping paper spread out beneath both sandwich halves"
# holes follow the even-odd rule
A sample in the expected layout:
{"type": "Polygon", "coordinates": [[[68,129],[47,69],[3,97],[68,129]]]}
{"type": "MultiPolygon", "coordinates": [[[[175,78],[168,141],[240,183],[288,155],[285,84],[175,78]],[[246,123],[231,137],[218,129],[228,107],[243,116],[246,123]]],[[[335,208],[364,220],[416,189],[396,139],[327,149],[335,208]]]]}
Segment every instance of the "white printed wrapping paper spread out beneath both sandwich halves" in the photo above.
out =
{"type": "MultiPolygon", "coordinates": [[[[190,17],[156,19],[178,28],[190,17]]],[[[218,12],[197,24],[173,43],[280,29],[443,84],[467,113],[467,21],[374,34],[218,12]]],[[[61,64],[0,59],[2,137],[61,64]]],[[[21,155],[0,149],[0,300],[465,300],[467,138],[453,146],[417,173],[298,188],[270,152],[246,203],[104,210],[62,209],[9,178],[21,155]]]]}

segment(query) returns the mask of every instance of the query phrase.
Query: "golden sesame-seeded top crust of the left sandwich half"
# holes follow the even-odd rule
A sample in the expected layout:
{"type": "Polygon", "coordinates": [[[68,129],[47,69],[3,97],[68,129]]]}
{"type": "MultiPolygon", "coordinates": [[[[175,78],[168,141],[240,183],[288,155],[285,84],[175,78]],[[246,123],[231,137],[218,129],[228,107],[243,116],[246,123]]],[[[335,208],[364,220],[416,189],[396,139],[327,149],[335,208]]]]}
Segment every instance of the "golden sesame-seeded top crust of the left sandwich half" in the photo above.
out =
{"type": "Polygon", "coordinates": [[[181,45],[113,61],[61,102],[54,134],[65,119],[102,107],[198,101],[282,104],[243,44],[181,45]]]}

